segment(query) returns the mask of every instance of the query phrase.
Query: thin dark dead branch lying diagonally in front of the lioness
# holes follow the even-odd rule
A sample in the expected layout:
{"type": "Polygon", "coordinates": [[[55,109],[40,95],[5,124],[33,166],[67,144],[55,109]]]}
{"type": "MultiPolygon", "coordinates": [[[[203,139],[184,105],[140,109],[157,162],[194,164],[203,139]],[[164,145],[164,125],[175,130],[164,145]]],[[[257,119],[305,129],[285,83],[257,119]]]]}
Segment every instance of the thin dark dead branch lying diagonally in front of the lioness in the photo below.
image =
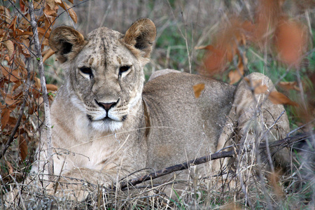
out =
{"type": "MultiPolygon", "coordinates": [[[[269,143],[269,147],[275,147],[275,146],[281,146],[281,147],[286,147],[286,146],[290,146],[292,145],[293,143],[297,142],[297,141],[302,141],[304,139],[307,139],[308,137],[311,137],[313,134],[311,133],[303,133],[303,134],[299,134],[299,135],[296,135],[294,137],[286,137],[285,139],[281,139],[279,141],[274,141],[272,143],[269,143]]],[[[261,143],[259,146],[258,146],[258,149],[265,149],[267,148],[267,144],[266,143],[261,143]]],[[[251,151],[252,148],[247,148],[246,151],[244,152],[249,152],[251,151]]],[[[179,164],[179,165],[174,165],[174,166],[171,166],[171,167],[167,167],[165,169],[162,169],[158,172],[153,172],[151,174],[146,174],[144,176],[140,176],[136,179],[132,179],[130,181],[123,181],[123,182],[120,182],[120,184],[118,185],[120,189],[124,189],[124,188],[127,188],[128,186],[136,186],[137,184],[139,183],[142,183],[144,181],[148,181],[148,180],[153,180],[153,179],[156,179],[160,176],[165,176],[167,174],[171,174],[173,172],[178,172],[178,171],[181,171],[181,170],[184,170],[184,169],[188,169],[190,166],[193,166],[193,165],[200,165],[202,163],[205,163],[205,162],[209,162],[211,160],[216,160],[216,159],[219,159],[219,158],[232,158],[234,155],[236,155],[237,153],[239,153],[239,150],[235,150],[235,151],[221,151],[221,152],[218,152],[218,153],[214,153],[214,154],[211,154],[211,155],[207,155],[207,156],[204,156],[202,158],[196,158],[195,160],[190,160],[188,162],[184,162],[182,164],[179,164]]]]}

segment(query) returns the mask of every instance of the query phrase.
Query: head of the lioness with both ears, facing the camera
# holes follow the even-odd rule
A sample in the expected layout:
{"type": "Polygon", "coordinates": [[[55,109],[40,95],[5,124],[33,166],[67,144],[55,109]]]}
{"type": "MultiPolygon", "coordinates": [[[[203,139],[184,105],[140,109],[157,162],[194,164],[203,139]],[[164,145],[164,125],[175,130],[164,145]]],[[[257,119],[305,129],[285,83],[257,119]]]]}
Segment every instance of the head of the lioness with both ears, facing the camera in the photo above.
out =
{"type": "Polygon", "coordinates": [[[84,38],[76,29],[57,27],[50,47],[64,63],[69,100],[96,130],[115,131],[137,113],[156,29],[151,20],[137,20],[125,35],[106,27],[84,38]],[[135,112],[136,111],[136,112],[135,112]]]}

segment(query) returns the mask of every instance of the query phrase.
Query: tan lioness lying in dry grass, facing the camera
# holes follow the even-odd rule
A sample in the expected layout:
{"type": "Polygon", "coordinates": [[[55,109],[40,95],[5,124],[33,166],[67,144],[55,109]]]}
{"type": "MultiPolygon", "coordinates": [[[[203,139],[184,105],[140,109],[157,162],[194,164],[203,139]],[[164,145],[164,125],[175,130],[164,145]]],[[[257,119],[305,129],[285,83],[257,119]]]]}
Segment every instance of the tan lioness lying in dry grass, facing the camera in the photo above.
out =
{"type": "MultiPolygon", "coordinates": [[[[111,186],[140,169],[158,170],[215,153],[235,130],[239,135],[253,132],[243,129],[258,110],[257,99],[264,95],[252,94],[244,80],[235,87],[166,70],[144,85],[143,68],[155,35],[155,25],[146,18],[134,22],[125,34],[102,27],[84,37],[66,26],[50,34],[50,47],[66,75],[51,106],[57,193],[67,188],[83,200],[86,193],[78,193],[78,186],[64,184],[76,182],[70,177],[111,186]],[[193,86],[199,83],[204,83],[204,90],[195,97],[193,86]],[[227,116],[241,119],[239,127],[225,126],[230,122],[227,116]]],[[[248,78],[274,88],[262,74],[248,78]]],[[[286,113],[281,115],[282,105],[265,100],[258,107],[260,115],[267,113],[262,120],[271,124],[281,116],[276,123],[278,136],[274,136],[279,139],[288,132],[288,118],[286,113]]],[[[47,174],[43,139],[32,167],[35,174],[47,174]]],[[[200,173],[210,171],[209,165],[200,167],[200,173]]],[[[183,172],[176,178],[187,179],[187,175],[183,172]]]]}

